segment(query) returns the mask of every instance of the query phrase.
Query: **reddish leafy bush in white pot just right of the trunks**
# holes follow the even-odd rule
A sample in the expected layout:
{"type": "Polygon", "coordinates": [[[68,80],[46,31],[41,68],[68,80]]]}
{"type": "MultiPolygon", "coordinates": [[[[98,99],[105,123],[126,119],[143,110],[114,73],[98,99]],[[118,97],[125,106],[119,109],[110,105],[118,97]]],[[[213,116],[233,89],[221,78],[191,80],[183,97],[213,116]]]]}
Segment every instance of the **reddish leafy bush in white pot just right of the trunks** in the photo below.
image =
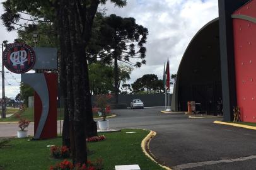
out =
{"type": "Polygon", "coordinates": [[[93,107],[93,112],[102,113],[103,121],[106,121],[107,113],[110,113],[110,106],[108,105],[109,100],[112,98],[111,94],[97,95],[95,99],[95,107],[93,107]]]}

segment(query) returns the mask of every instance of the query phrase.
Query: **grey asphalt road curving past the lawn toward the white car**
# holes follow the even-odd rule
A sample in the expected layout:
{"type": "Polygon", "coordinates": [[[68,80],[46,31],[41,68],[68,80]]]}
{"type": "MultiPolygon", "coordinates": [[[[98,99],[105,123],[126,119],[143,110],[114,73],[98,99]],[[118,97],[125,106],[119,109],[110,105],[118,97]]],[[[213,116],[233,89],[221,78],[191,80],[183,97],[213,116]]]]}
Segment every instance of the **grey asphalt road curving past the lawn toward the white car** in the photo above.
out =
{"type": "MultiPolygon", "coordinates": [[[[150,150],[157,161],[173,169],[256,169],[255,130],[212,123],[220,118],[189,119],[160,110],[163,108],[113,110],[117,116],[108,118],[110,128],[156,131],[150,150]]],[[[0,137],[15,136],[17,126],[0,123],[0,137]]],[[[33,123],[29,128],[33,134],[33,123]]]]}

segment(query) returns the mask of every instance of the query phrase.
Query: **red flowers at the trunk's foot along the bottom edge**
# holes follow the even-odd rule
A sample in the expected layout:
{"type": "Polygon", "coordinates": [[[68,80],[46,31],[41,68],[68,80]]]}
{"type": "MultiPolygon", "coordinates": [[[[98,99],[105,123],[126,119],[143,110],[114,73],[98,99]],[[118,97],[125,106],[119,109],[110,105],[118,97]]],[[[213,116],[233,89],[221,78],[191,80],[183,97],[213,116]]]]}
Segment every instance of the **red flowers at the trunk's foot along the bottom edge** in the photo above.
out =
{"type": "Polygon", "coordinates": [[[55,166],[50,166],[50,170],[102,170],[102,161],[97,160],[96,162],[88,161],[87,164],[76,164],[75,166],[67,161],[66,159],[55,166]]]}

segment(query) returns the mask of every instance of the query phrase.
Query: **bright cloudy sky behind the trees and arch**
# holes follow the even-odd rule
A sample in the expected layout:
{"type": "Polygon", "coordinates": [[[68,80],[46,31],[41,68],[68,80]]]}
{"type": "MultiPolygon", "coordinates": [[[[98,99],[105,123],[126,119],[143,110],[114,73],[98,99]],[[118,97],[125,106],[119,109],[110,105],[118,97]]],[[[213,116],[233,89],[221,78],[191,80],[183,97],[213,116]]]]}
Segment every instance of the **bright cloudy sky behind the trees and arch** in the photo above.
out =
{"type": "MultiPolygon", "coordinates": [[[[122,17],[133,17],[137,24],[148,28],[146,65],[135,68],[128,83],[144,74],[156,74],[159,79],[163,79],[163,65],[167,59],[170,61],[170,74],[177,74],[182,55],[195,33],[218,17],[218,0],[127,0],[124,8],[118,8],[110,2],[100,8],[107,9],[107,15],[114,13],[122,17]]],[[[3,13],[1,4],[0,14],[3,13]]],[[[13,42],[17,37],[15,31],[6,31],[2,21],[0,32],[0,42],[13,42]]],[[[15,97],[20,91],[20,75],[6,73],[5,76],[6,96],[15,97]]]]}

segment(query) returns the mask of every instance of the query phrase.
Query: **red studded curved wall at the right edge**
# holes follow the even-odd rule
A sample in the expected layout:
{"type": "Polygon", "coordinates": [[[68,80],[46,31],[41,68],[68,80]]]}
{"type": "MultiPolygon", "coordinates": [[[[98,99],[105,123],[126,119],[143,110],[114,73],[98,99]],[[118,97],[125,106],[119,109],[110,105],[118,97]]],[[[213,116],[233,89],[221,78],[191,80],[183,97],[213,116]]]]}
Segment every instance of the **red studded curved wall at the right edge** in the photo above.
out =
{"type": "MultiPolygon", "coordinates": [[[[256,18],[256,0],[233,14],[256,18]]],[[[236,95],[241,121],[256,122],[256,23],[233,19],[236,95]]]]}

